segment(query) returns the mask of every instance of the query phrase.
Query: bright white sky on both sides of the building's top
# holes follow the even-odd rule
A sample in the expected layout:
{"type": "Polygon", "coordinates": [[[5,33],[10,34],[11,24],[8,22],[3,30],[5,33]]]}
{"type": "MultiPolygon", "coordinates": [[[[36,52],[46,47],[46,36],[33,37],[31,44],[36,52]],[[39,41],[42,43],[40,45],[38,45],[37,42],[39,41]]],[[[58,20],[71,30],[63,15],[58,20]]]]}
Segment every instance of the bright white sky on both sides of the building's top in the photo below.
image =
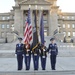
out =
{"type": "MultiPolygon", "coordinates": [[[[14,0],[0,0],[0,13],[9,12],[15,5],[14,0]]],[[[62,12],[75,12],[75,0],[57,0],[62,12]]]]}

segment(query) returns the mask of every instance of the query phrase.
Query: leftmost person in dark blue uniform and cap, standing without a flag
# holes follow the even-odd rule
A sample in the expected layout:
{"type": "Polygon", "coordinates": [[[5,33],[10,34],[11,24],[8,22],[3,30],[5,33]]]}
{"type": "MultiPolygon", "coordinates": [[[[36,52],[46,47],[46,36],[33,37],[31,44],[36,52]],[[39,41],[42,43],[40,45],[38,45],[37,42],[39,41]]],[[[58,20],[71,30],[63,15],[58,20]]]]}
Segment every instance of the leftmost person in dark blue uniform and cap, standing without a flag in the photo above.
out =
{"type": "Polygon", "coordinates": [[[22,70],[23,67],[23,43],[22,38],[18,38],[19,43],[16,44],[16,54],[17,54],[17,63],[18,63],[18,70],[22,70]]]}

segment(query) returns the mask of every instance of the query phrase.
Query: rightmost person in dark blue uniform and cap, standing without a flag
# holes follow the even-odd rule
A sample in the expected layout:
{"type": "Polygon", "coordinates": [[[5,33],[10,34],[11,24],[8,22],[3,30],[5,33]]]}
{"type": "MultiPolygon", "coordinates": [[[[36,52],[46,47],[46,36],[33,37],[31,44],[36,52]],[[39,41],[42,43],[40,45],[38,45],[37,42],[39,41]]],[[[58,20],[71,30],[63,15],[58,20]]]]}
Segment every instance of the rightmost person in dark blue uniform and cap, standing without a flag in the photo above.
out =
{"type": "Polygon", "coordinates": [[[51,43],[49,44],[48,52],[51,53],[51,55],[50,55],[51,69],[55,70],[56,57],[57,57],[57,54],[58,54],[58,47],[57,47],[57,44],[55,43],[54,38],[51,38],[50,41],[51,41],[51,43]]]}

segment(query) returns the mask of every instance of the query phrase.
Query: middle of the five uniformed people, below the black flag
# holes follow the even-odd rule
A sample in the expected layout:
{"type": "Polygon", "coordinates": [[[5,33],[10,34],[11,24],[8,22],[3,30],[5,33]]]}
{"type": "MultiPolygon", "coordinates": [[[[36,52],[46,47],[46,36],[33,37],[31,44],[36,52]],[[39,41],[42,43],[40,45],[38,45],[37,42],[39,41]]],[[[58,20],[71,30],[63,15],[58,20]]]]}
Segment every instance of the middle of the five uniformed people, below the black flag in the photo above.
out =
{"type": "Polygon", "coordinates": [[[33,51],[33,63],[34,63],[34,70],[38,70],[39,68],[39,48],[36,47],[33,51]]]}

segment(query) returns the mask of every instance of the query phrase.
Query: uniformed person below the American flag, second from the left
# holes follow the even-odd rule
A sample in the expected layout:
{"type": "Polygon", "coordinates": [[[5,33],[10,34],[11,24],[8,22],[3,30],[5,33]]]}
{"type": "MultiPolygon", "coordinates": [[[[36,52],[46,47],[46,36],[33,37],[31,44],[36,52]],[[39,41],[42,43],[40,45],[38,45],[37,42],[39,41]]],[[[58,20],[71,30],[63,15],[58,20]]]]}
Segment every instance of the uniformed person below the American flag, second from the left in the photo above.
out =
{"type": "Polygon", "coordinates": [[[31,49],[30,45],[26,47],[27,45],[24,44],[24,57],[25,57],[25,65],[26,65],[26,70],[30,69],[30,62],[31,62],[31,49]]]}

